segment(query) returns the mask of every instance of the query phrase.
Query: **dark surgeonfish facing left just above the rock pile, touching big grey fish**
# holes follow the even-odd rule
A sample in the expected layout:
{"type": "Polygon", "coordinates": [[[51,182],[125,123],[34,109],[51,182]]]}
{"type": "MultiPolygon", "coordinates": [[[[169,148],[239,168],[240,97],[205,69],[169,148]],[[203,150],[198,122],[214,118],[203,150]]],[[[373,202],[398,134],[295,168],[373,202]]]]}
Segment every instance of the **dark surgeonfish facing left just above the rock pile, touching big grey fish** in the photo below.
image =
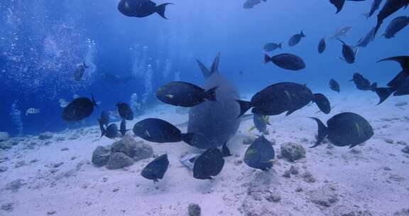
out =
{"type": "Polygon", "coordinates": [[[191,144],[195,134],[182,134],[182,131],[162,119],[143,119],[133,126],[133,133],[136,136],[154,143],[175,143],[185,141],[191,144]]]}

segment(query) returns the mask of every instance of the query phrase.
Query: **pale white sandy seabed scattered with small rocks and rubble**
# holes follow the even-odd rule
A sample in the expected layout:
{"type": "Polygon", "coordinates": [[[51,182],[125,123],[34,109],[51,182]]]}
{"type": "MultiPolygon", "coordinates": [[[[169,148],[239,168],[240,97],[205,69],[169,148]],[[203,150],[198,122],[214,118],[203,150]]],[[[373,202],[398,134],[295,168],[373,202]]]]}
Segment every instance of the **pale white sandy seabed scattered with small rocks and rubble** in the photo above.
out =
{"type": "MultiPolygon", "coordinates": [[[[276,140],[276,153],[280,153],[281,144],[291,141],[305,147],[306,158],[295,163],[280,159],[268,173],[249,168],[241,161],[248,147],[243,139],[249,136],[247,130],[252,121],[244,121],[229,143],[235,156],[226,158],[222,173],[214,181],[192,178],[192,172],[180,164],[182,153],[197,152],[184,143],[149,143],[156,155],[168,153],[170,160],[165,178],[154,185],[140,175],[152,158],[117,171],[95,168],[89,162],[94,148],[113,142],[98,139],[96,126],[64,131],[45,141],[26,137],[10,150],[0,151],[0,158],[9,158],[0,163],[9,168],[0,173],[0,205],[13,202],[13,210],[0,210],[0,215],[180,216],[187,215],[190,202],[200,204],[202,215],[393,215],[408,208],[409,154],[401,149],[405,147],[403,143],[409,143],[409,105],[395,106],[408,97],[394,97],[376,106],[378,99],[371,92],[331,92],[327,96],[336,106],[332,114],[315,113],[318,109],[312,104],[289,117],[271,117],[273,126],[266,137],[276,140]],[[325,122],[339,112],[356,112],[368,119],[375,129],[373,138],[353,150],[327,148],[327,144],[308,148],[315,141],[317,125],[306,117],[319,117],[325,122]],[[65,140],[58,141],[60,137],[65,140]],[[392,139],[393,144],[385,139],[392,139]],[[33,149],[27,148],[31,142],[36,143],[33,149]],[[46,142],[50,143],[45,145],[46,142]],[[31,163],[34,159],[38,161],[31,163]],[[15,168],[19,161],[26,164],[15,168]],[[60,162],[63,164],[58,168],[50,165],[60,162]],[[284,171],[292,165],[300,168],[300,175],[284,178],[284,171]],[[312,173],[314,183],[302,178],[305,171],[312,173]],[[15,192],[6,190],[6,184],[17,179],[23,180],[24,185],[15,192]],[[326,185],[334,189],[329,191],[329,196],[335,198],[329,207],[317,205],[310,198],[311,190],[326,185]],[[266,199],[268,196],[275,200],[266,199]]],[[[146,117],[173,124],[187,120],[186,114],[174,111],[173,107],[158,107],[134,122],[146,117]]]]}

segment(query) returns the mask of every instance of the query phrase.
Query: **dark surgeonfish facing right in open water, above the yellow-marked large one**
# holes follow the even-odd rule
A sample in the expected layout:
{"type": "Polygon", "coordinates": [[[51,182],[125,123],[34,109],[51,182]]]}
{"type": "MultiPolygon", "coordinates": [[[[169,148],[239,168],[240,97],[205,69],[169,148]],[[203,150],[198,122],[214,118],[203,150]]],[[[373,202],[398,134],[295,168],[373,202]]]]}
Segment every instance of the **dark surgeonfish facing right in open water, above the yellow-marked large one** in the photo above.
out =
{"type": "Polygon", "coordinates": [[[274,55],[273,57],[264,55],[264,63],[272,62],[280,68],[286,70],[302,70],[305,68],[305,63],[302,58],[297,55],[283,53],[280,55],[274,55]]]}

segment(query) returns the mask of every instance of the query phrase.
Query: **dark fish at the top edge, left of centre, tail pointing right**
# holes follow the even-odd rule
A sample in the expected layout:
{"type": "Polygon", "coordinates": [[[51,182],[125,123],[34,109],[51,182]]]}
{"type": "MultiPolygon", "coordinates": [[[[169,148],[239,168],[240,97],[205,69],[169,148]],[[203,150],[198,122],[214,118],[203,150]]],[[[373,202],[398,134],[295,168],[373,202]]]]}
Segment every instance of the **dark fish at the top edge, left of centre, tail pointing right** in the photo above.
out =
{"type": "Polygon", "coordinates": [[[125,16],[142,18],[150,16],[153,13],[158,13],[163,18],[166,18],[165,9],[169,4],[172,3],[165,3],[157,6],[156,3],[151,0],[121,0],[118,4],[118,10],[125,16]]]}

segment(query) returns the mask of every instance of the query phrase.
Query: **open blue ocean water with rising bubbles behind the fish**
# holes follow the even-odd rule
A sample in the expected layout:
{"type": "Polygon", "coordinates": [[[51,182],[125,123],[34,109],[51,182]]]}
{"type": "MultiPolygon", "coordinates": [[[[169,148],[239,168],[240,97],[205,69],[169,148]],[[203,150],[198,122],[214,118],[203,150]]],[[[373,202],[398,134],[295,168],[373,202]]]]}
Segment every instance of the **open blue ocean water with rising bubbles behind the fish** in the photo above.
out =
{"type": "MultiPolygon", "coordinates": [[[[164,1],[158,1],[158,4],[164,1]]],[[[354,45],[376,25],[376,14],[366,19],[371,1],[347,1],[335,14],[322,0],[267,1],[243,9],[243,1],[171,1],[165,20],[153,14],[130,18],[116,9],[118,1],[29,1],[0,2],[0,131],[38,134],[97,124],[101,110],[116,110],[117,102],[138,103],[138,113],[160,104],[154,92],[166,82],[183,80],[202,85],[196,59],[210,65],[222,53],[220,72],[242,94],[256,92],[276,82],[306,83],[314,92],[329,91],[337,80],[342,90],[355,87],[348,80],[361,72],[372,82],[386,85],[396,72],[396,63],[376,61],[407,55],[408,28],[396,38],[378,37],[400,10],[386,19],[376,40],[361,48],[355,64],[348,65],[339,41],[329,39],[337,28],[352,26],[343,40],[354,45]],[[303,30],[306,38],[288,47],[288,39],[303,30]],[[320,38],[327,50],[317,53],[320,38]],[[298,72],[263,64],[263,45],[283,41],[278,53],[293,53],[305,60],[298,72]],[[86,63],[80,82],[72,79],[79,63],[86,63]],[[125,83],[104,80],[104,75],[132,76],[125,83]],[[135,97],[135,95],[137,97],[135,97]],[[97,112],[77,124],[60,117],[60,99],[73,95],[101,102],[97,112]],[[133,97],[132,97],[133,95],[133,97]],[[30,108],[38,114],[26,114],[30,108]]],[[[380,109],[379,112],[382,112],[380,109]]]]}

